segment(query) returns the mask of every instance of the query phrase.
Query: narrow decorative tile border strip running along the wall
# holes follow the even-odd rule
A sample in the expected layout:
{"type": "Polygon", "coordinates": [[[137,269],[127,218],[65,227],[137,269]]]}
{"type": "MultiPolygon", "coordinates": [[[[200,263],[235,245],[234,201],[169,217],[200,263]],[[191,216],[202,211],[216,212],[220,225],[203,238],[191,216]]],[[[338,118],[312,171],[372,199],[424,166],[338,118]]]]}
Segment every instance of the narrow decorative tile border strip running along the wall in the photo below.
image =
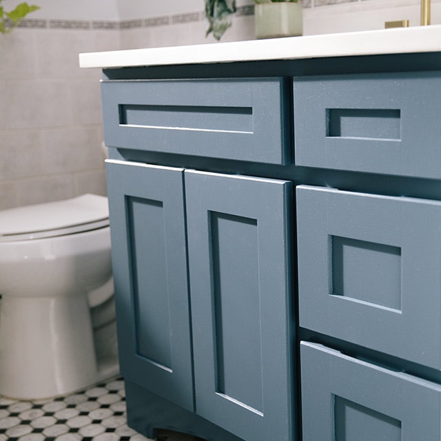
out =
{"type": "MultiPolygon", "coordinates": [[[[303,8],[315,8],[317,6],[336,5],[339,3],[360,2],[362,0],[299,0],[303,8]]],[[[236,11],[237,17],[254,15],[254,5],[239,6],[236,11]]],[[[134,19],[123,21],[79,21],[79,20],[46,20],[24,19],[19,24],[20,28],[34,29],[99,29],[99,30],[127,30],[136,28],[156,28],[183,23],[195,23],[205,21],[205,12],[189,12],[187,14],[174,14],[171,16],[152,17],[149,19],[134,19]]]]}

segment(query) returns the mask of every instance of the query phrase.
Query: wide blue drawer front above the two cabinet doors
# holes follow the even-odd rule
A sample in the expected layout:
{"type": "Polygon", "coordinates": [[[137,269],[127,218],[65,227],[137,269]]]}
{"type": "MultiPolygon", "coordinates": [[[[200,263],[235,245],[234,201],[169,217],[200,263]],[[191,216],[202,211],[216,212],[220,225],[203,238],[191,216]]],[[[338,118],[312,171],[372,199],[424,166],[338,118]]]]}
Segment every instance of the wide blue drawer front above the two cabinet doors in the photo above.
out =
{"type": "Polygon", "coordinates": [[[290,163],[284,81],[103,81],[110,147],[290,163]]]}

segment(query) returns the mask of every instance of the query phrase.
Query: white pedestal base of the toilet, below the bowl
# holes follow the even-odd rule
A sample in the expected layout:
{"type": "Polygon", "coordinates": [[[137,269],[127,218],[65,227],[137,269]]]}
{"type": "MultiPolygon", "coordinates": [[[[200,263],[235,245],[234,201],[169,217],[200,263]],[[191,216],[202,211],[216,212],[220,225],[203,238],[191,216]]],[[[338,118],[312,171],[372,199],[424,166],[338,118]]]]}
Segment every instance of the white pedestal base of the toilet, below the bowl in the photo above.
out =
{"type": "Polygon", "coordinates": [[[85,294],[3,296],[0,309],[0,395],[49,398],[118,373],[118,362],[96,361],[85,294]]]}

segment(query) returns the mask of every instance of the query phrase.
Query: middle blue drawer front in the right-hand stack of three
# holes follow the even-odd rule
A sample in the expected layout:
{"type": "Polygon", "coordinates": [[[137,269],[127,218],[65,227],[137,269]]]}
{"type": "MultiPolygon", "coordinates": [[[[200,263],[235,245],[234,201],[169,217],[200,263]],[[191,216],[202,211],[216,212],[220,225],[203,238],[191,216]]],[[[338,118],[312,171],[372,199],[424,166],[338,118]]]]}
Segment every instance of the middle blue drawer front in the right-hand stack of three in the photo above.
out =
{"type": "Polygon", "coordinates": [[[441,369],[441,203],[296,191],[300,326],[441,369]]]}

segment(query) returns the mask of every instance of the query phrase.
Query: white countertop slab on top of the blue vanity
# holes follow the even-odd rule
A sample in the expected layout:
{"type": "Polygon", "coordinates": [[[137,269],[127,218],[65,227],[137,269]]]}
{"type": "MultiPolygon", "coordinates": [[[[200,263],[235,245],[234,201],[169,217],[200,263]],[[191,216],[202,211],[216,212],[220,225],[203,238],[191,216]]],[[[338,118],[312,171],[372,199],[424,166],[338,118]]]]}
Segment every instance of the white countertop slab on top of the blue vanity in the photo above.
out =
{"type": "Polygon", "coordinates": [[[441,52],[441,25],[80,54],[81,68],[441,52]]]}

